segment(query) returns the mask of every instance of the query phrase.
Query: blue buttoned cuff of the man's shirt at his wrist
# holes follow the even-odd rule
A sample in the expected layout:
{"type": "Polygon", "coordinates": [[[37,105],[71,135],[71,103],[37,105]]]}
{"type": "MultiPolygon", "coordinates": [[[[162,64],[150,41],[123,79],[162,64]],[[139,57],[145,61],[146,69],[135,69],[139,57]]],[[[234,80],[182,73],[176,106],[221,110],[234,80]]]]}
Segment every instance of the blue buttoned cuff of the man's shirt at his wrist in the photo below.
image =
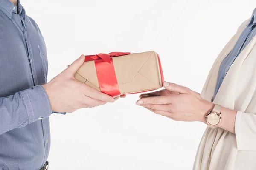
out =
{"type": "Polygon", "coordinates": [[[52,109],[49,97],[41,85],[34,86],[20,92],[26,111],[29,117],[29,123],[38,119],[44,119],[51,115],[52,109]]]}

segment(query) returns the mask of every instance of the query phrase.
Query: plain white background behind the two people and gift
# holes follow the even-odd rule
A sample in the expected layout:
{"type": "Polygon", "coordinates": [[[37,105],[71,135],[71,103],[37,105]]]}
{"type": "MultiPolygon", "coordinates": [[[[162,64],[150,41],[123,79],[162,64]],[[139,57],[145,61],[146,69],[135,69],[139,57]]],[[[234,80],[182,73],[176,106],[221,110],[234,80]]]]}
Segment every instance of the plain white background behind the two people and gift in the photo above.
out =
{"type": "MultiPolygon", "coordinates": [[[[81,54],[157,51],[165,80],[201,92],[255,0],[21,0],[47,45],[48,81],[81,54]]],[[[50,170],[191,170],[206,125],[135,105],[51,116],[50,170]]]]}

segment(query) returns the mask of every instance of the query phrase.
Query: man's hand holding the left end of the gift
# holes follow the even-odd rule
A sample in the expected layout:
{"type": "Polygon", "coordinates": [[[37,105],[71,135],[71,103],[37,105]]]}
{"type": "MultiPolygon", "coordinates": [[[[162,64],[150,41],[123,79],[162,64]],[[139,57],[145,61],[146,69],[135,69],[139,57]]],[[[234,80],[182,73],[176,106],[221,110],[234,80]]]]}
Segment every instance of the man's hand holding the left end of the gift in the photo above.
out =
{"type": "Polygon", "coordinates": [[[55,112],[74,112],[79,108],[91,108],[115,102],[115,99],[101,93],[74,78],[75,72],[84,63],[84,55],[74,61],[67,69],[49,83],[43,85],[55,112]]]}

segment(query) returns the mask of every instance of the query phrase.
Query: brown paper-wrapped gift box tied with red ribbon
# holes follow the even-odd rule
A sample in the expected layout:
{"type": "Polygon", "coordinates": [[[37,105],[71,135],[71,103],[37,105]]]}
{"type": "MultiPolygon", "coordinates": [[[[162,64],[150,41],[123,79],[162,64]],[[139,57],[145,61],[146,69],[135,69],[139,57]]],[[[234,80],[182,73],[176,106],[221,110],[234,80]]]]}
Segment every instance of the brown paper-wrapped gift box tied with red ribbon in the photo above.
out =
{"type": "Polygon", "coordinates": [[[137,54],[112,52],[85,56],[74,77],[98,91],[116,97],[163,87],[163,71],[155,51],[137,54]]]}

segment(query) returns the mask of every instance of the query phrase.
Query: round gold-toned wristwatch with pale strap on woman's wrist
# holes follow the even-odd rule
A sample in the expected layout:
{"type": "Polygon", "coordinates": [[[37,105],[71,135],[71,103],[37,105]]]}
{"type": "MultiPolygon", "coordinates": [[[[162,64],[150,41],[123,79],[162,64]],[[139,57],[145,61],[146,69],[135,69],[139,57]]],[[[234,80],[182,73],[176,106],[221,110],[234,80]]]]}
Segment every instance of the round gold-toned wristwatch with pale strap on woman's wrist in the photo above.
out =
{"type": "Polygon", "coordinates": [[[215,105],[212,111],[205,116],[208,127],[214,129],[221,123],[221,106],[215,105]]]}

